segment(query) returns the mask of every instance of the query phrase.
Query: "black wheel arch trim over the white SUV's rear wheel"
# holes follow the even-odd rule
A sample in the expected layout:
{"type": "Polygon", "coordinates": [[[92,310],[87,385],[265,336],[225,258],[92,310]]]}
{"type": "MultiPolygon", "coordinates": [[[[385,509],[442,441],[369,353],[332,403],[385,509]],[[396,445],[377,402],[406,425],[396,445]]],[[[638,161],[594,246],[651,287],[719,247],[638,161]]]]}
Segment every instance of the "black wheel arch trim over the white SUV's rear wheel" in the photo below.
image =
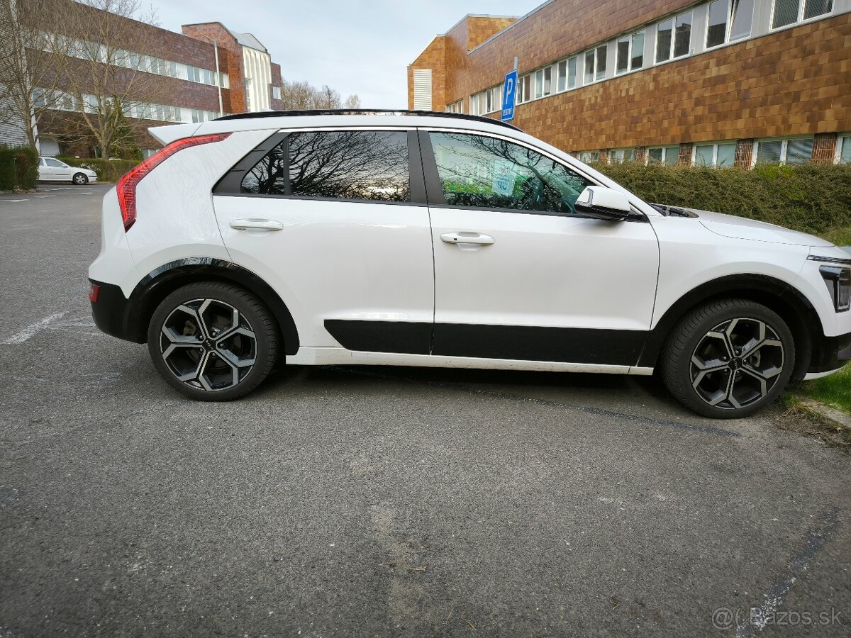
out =
{"type": "Polygon", "coordinates": [[[295,327],[293,316],[275,290],[260,276],[247,268],[226,259],[214,257],[177,259],[155,268],[142,277],[133,292],[130,293],[129,298],[130,305],[138,309],[136,320],[138,325],[134,327],[133,331],[137,339],[131,338],[130,340],[145,343],[147,322],[159,302],[174,289],[180,288],[185,283],[203,278],[233,282],[257,295],[277,319],[283,336],[285,354],[294,355],[299,350],[299,333],[295,327]],[[141,339],[138,339],[140,335],[142,335],[141,339]]]}

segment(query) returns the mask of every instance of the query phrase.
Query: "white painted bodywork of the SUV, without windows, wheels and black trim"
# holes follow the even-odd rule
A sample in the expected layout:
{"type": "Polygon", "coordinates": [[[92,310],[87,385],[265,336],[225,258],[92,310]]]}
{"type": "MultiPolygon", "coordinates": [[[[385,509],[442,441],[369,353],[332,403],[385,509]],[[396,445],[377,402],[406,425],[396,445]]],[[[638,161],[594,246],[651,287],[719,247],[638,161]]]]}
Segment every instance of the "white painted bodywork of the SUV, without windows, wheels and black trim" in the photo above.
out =
{"type": "Polygon", "coordinates": [[[428,115],[257,117],[151,128],[163,144],[216,133],[231,135],[178,152],[140,182],[138,219],[129,232],[123,231],[115,189],[107,193],[103,246],[89,276],[119,285],[129,297],[149,273],[180,259],[207,257],[242,266],[271,286],[294,318],[300,349],[287,356],[288,363],[647,374],[652,367],[347,350],[324,322],[644,333],[701,284],[742,273],[797,288],[813,305],[826,336],[851,333],[851,312],[834,310],[819,264],[808,261],[813,253],[836,259],[847,259],[848,253],[813,236],[728,215],[665,216],[593,168],[516,129],[428,115]],[[473,132],[527,145],[597,185],[625,194],[645,223],[211,194],[235,162],[277,131],[388,130],[400,125],[473,132]],[[260,220],[263,227],[246,220],[260,220]],[[453,235],[484,243],[444,238],[453,235]]]}

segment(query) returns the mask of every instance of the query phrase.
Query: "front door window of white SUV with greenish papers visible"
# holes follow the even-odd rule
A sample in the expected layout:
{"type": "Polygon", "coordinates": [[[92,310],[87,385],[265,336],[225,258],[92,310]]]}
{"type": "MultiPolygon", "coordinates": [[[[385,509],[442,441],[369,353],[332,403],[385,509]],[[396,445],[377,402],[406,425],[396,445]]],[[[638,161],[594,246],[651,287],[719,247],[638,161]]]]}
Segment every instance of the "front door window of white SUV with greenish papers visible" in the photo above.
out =
{"type": "Polygon", "coordinates": [[[593,183],[539,152],[507,140],[431,133],[443,197],[449,206],[573,214],[593,183]]]}

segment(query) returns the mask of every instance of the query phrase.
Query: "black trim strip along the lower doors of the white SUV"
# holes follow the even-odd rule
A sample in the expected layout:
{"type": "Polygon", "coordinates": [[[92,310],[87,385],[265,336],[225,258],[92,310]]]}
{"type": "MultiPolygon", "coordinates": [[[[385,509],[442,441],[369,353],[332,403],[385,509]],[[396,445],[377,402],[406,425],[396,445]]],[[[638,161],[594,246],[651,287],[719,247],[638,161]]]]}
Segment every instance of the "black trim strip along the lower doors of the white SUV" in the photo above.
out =
{"type": "Polygon", "coordinates": [[[636,365],[648,337],[643,330],[341,319],[325,328],[346,350],[601,366],[636,365]]]}

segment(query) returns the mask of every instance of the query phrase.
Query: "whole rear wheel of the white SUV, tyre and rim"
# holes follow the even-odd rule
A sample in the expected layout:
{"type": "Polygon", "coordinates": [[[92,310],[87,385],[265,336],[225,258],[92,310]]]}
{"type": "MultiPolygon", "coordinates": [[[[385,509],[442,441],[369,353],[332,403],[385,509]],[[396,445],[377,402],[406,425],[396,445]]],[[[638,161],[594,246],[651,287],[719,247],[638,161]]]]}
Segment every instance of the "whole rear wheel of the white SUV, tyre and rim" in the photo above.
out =
{"type": "Polygon", "coordinates": [[[220,282],[178,288],[148,325],[157,372],[197,401],[231,401],[254,390],[274,367],[280,341],[259,299],[220,282]]]}

